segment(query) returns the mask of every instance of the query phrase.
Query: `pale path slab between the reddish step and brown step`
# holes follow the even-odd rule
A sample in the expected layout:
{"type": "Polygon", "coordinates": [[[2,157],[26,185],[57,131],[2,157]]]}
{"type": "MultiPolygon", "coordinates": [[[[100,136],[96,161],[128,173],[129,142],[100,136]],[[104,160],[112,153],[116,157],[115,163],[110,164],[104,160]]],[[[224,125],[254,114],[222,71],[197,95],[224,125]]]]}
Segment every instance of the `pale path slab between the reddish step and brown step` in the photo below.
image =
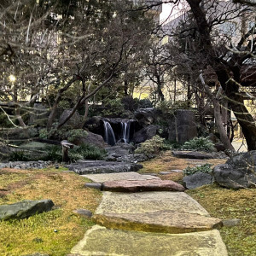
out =
{"type": "Polygon", "coordinates": [[[183,212],[209,216],[201,205],[183,192],[113,193],[103,192],[96,214],[144,213],[157,211],[183,212]]]}

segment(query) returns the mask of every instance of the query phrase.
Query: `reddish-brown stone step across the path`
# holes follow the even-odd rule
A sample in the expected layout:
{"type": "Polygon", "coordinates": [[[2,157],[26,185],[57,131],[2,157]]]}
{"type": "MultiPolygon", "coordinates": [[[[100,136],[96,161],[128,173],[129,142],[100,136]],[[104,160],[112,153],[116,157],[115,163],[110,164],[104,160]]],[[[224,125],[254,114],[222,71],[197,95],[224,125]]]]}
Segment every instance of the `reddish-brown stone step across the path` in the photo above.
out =
{"type": "Polygon", "coordinates": [[[179,191],[183,192],[183,185],[172,180],[118,180],[102,183],[102,190],[112,192],[142,192],[142,191],[179,191]]]}

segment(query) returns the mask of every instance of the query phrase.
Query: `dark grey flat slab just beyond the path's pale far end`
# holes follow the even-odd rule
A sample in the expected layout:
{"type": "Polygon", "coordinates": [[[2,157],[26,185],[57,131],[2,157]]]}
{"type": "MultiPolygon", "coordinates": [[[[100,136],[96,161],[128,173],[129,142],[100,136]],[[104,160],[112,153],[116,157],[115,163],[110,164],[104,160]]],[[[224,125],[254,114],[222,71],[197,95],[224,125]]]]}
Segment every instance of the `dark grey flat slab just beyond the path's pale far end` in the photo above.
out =
{"type": "Polygon", "coordinates": [[[137,172],[142,165],[127,162],[110,162],[104,160],[79,160],[68,166],[70,171],[81,174],[109,172],[137,172]]]}

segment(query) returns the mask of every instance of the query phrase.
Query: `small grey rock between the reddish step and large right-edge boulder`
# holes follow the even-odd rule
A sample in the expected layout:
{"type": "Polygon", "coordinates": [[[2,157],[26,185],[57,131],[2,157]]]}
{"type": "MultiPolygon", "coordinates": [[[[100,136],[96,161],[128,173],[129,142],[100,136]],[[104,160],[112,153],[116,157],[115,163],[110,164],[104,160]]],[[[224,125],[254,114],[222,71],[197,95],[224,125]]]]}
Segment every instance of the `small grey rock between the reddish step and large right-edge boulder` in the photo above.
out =
{"type": "Polygon", "coordinates": [[[212,184],[212,181],[212,175],[203,172],[195,172],[195,174],[183,177],[183,183],[187,189],[195,189],[204,185],[212,184]]]}

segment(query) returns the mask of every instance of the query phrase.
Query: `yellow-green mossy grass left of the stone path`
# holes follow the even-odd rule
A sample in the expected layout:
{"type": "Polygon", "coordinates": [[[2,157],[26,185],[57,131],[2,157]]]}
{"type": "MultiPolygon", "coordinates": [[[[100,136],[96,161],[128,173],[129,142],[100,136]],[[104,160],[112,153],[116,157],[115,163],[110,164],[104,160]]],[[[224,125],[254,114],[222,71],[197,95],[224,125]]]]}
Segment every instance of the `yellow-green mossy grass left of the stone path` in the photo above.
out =
{"type": "Polygon", "coordinates": [[[22,200],[51,199],[53,211],[22,220],[0,222],[0,255],[47,253],[65,255],[93,224],[73,210],[96,210],[101,193],[84,188],[84,177],[73,172],[48,170],[1,170],[0,204],[22,200]]]}

